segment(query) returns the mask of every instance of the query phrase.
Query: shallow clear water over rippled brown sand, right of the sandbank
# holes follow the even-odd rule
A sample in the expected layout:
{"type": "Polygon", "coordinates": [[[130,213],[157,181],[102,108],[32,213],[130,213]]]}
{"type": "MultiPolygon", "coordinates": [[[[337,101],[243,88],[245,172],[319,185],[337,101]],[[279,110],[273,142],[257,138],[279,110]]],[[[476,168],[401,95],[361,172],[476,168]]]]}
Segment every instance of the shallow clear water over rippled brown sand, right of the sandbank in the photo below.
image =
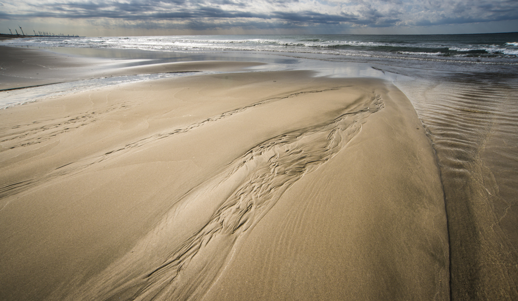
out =
{"type": "Polygon", "coordinates": [[[399,82],[437,153],[452,299],[518,296],[518,81],[495,70],[399,82]]]}

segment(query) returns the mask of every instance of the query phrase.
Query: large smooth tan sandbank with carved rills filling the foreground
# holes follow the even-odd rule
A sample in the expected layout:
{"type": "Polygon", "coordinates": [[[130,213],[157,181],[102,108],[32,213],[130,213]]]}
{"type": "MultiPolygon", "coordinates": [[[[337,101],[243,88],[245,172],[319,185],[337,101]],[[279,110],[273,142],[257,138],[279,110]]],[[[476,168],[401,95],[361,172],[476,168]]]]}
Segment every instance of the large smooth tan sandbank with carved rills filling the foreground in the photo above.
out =
{"type": "Polygon", "coordinates": [[[449,299],[436,156],[390,82],[198,75],[0,120],[1,299],[449,299]]]}

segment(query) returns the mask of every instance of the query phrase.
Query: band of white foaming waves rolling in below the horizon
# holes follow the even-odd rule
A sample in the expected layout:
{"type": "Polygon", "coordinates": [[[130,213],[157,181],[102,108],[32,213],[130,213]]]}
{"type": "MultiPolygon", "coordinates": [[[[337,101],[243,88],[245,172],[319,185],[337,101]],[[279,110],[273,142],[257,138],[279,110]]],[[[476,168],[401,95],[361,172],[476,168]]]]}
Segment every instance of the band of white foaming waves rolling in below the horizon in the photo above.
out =
{"type": "Polygon", "coordinates": [[[473,41],[467,40],[470,35],[458,36],[461,37],[460,41],[456,40],[457,36],[434,36],[432,39],[427,36],[389,35],[31,37],[4,41],[3,44],[23,47],[116,48],[151,51],[273,51],[412,60],[433,56],[461,63],[518,63],[516,62],[518,42],[491,41],[488,38],[473,41]],[[481,62],[481,59],[485,61],[481,62]]]}

